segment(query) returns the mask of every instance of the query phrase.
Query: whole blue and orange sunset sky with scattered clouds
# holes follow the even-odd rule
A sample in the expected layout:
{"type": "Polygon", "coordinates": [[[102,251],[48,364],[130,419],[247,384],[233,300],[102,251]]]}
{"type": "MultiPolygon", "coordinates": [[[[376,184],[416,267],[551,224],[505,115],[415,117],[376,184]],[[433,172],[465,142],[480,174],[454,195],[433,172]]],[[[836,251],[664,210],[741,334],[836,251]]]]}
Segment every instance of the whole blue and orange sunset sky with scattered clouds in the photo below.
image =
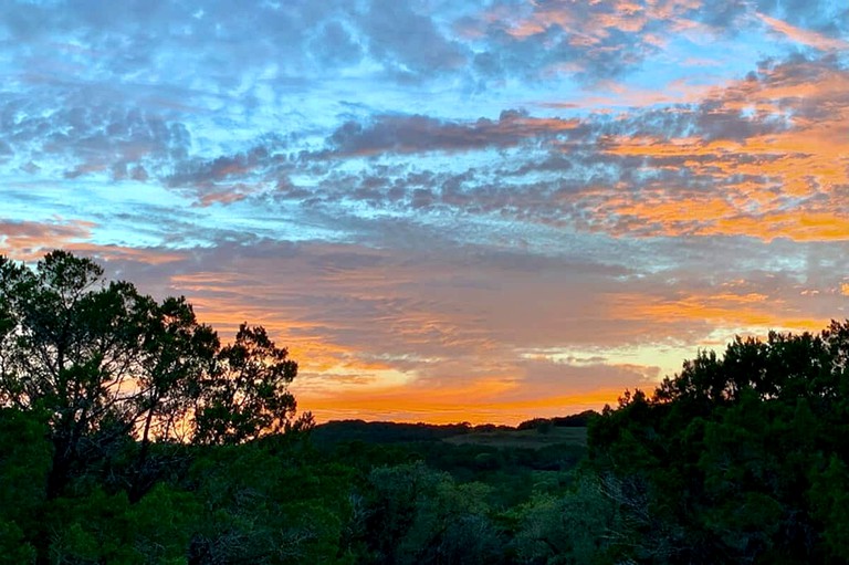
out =
{"type": "Polygon", "coordinates": [[[845,0],[4,0],[0,253],[517,423],[849,317],[845,0]]]}

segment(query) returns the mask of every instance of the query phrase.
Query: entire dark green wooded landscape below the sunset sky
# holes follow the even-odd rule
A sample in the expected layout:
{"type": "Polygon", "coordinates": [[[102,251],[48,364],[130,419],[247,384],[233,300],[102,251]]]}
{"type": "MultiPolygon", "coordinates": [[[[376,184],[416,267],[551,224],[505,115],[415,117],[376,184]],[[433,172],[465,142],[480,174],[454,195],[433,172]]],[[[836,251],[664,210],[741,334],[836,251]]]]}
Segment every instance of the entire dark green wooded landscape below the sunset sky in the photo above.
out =
{"type": "Polygon", "coordinates": [[[601,415],[313,429],[261,327],[0,258],[0,564],[847,563],[848,360],[832,323],[601,415]]]}

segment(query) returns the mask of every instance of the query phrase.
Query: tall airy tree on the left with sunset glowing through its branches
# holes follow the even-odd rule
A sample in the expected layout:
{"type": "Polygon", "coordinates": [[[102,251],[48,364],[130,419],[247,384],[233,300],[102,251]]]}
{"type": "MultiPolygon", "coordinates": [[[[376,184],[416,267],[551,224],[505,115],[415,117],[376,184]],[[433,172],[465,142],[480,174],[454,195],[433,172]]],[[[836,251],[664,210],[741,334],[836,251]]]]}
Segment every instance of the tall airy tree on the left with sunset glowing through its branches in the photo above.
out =
{"type": "Polygon", "coordinates": [[[242,325],[222,347],[185,297],[157,302],[106,282],[91,259],[53,251],[30,268],[0,255],[0,407],[48,415],[49,498],[128,438],[144,467],[151,442],[240,442],[290,428],[296,373],[263,328],[242,325]]]}

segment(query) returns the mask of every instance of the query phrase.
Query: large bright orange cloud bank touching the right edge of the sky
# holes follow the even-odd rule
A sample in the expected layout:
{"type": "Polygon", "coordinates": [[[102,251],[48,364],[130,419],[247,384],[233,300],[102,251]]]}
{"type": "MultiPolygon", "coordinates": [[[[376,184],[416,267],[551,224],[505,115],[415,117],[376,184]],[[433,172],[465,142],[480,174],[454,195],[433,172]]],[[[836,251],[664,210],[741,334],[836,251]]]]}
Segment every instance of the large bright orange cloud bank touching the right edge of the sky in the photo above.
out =
{"type": "Polygon", "coordinates": [[[576,198],[594,202],[588,210],[594,211],[596,229],[617,234],[849,240],[846,92],[849,72],[824,62],[766,69],[758,81],[715,91],[706,101],[711,111],[693,115],[713,121],[713,127],[721,128],[716,138],[641,135],[601,140],[607,155],[641,158],[647,171],[686,172],[685,178],[576,198]],[[776,121],[784,125],[762,130],[763,124],[776,121]],[[715,189],[691,188],[688,178],[701,184],[713,179],[715,189]]]}

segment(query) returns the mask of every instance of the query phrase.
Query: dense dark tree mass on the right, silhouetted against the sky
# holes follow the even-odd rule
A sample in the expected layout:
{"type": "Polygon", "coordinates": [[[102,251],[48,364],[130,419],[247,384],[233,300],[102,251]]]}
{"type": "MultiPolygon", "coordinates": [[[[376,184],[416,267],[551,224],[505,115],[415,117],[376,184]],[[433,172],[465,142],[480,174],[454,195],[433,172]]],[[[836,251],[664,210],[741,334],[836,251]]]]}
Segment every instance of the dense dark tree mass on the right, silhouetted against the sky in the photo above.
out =
{"type": "Polygon", "coordinates": [[[847,362],[849,323],[816,336],[738,338],[722,357],[685,362],[651,397],[626,393],[606,409],[590,426],[594,465],[646,493],[643,504],[621,506],[619,534],[636,541],[623,555],[846,559],[849,451],[837,438],[849,431],[847,362]]]}

